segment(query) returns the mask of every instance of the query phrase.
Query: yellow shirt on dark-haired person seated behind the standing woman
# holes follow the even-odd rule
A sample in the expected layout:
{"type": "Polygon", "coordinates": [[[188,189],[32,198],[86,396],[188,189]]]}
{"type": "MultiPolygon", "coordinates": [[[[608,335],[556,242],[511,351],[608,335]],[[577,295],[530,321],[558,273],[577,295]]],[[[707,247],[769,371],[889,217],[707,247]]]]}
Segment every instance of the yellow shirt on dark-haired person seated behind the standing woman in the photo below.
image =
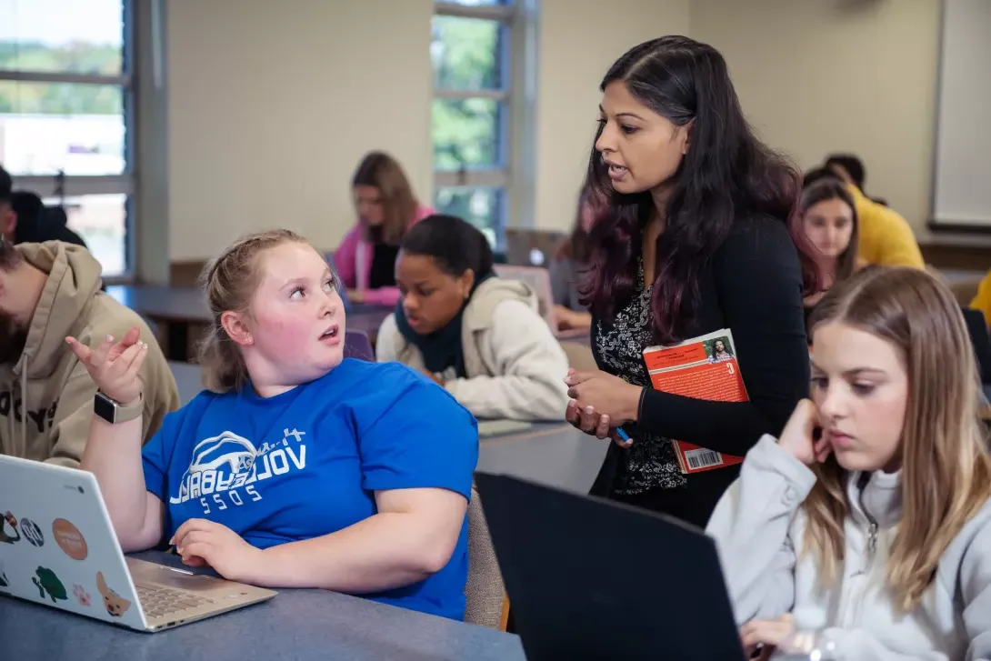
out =
{"type": "Polygon", "coordinates": [[[868,199],[856,186],[848,188],[860,223],[857,246],[860,258],[882,267],[925,269],[923,254],[909,222],[897,211],[868,199]]]}

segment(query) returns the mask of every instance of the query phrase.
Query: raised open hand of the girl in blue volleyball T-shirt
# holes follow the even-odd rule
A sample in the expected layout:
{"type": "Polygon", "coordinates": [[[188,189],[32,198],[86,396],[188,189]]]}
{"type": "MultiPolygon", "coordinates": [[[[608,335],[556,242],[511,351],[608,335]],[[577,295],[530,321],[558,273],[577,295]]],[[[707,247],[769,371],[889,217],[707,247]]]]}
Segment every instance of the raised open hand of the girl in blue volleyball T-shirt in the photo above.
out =
{"type": "Polygon", "coordinates": [[[100,391],[120,404],[129,404],[141,396],[138,371],[148,356],[148,344],[140,341],[141,332],[132,328],[114,342],[108,335],[96,349],[90,349],[74,337],[66,337],[72,353],[86,368],[100,391]]]}

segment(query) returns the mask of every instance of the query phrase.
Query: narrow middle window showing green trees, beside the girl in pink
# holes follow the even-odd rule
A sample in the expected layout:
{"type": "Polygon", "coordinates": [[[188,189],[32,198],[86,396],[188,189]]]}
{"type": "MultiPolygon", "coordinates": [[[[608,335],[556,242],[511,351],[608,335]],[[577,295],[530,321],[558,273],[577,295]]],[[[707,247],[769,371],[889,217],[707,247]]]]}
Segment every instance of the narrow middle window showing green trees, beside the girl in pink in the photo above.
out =
{"type": "Polygon", "coordinates": [[[511,174],[524,158],[514,136],[524,76],[517,74],[532,0],[436,2],[430,57],[434,205],[474,223],[500,249],[511,210],[524,204],[511,174]]]}

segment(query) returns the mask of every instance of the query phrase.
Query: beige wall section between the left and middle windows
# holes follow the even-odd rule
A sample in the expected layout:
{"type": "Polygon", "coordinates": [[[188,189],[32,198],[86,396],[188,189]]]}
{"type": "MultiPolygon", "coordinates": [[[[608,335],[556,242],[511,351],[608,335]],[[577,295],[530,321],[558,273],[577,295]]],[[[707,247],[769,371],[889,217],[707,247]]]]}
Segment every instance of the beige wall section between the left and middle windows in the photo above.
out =
{"type": "Polygon", "coordinates": [[[273,226],[333,247],[381,147],[432,185],[431,0],[167,3],[172,261],[273,226]]]}

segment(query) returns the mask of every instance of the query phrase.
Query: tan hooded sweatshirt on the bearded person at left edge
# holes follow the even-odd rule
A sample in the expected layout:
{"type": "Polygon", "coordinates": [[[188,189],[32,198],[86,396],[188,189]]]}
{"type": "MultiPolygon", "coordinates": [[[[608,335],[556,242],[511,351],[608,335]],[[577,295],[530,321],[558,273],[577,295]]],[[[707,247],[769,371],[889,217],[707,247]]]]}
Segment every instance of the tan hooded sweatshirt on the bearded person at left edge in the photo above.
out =
{"type": "Polygon", "coordinates": [[[56,241],[17,249],[49,278],[31,318],[24,353],[15,365],[0,365],[0,454],[77,467],[96,385],[65,337],[96,348],[108,334],[120,338],[135,326],[148,343],[140,373],[148,440],[165,413],[179,405],[175,380],[148,325],[99,290],[100,265],[86,249],[56,241]]]}

